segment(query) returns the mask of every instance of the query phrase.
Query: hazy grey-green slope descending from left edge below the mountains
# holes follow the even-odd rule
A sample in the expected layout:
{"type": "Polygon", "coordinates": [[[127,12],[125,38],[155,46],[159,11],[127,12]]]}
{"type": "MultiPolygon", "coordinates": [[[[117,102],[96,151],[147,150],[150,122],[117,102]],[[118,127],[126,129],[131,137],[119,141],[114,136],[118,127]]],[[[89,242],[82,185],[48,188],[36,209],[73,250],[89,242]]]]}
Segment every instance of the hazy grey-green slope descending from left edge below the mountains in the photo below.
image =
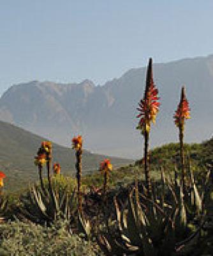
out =
{"type": "MultiPolygon", "coordinates": [[[[31,132],[0,121],[0,170],[6,173],[5,188],[18,189],[28,182],[38,180],[38,170],[34,166],[34,156],[45,140],[31,132]]],[[[71,141],[71,138],[68,138],[71,141]]],[[[84,150],[83,174],[95,171],[106,156],[91,154],[84,150]]],[[[131,160],[110,157],[114,166],[131,163],[131,160]]],[[[61,164],[64,174],[75,175],[75,152],[71,148],[53,143],[53,161],[61,164]]]]}

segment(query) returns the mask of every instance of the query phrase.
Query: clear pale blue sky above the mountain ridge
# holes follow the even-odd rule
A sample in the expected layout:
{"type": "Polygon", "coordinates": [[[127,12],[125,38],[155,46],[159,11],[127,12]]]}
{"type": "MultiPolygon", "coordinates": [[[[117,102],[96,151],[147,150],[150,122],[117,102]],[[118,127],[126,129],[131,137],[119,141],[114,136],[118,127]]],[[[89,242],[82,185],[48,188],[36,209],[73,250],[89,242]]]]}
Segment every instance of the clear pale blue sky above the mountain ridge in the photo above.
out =
{"type": "Polygon", "coordinates": [[[0,0],[0,94],[213,53],[212,0],[0,0]]]}

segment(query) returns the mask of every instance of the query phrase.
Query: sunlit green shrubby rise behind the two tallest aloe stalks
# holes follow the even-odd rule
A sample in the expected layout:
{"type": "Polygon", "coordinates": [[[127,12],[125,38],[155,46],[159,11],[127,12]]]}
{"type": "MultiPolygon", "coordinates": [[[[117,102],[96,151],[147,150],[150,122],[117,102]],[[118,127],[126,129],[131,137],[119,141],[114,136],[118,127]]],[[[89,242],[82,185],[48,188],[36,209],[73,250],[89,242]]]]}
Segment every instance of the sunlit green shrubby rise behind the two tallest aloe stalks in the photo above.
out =
{"type": "MultiPolygon", "coordinates": [[[[159,180],[161,177],[160,169],[163,167],[166,172],[173,173],[175,165],[179,168],[179,143],[169,143],[161,147],[156,147],[150,151],[151,177],[159,180]]],[[[203,172],[203,167],[212,165],[213,163],[213,138],[203,143],[184,144],[186,150],[186,165],[188,157],[191,167],[198,174],[203,172]]],[[[142,159],[134,164],[121,166],[110,173],[109,186],[126,186],[138,179],[144,179],[142,159]]],[[[103,177],[98,172],[91,175],[85,175],[83,183],[86,185],[101,186],[103,177]]]]}

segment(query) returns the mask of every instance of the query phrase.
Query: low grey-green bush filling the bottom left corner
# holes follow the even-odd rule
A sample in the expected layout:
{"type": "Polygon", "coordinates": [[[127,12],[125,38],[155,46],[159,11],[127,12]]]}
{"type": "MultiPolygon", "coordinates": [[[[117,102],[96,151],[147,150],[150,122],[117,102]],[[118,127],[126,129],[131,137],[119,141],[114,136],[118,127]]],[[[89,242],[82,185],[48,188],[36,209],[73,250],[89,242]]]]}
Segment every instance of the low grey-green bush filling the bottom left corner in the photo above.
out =
{"type": "Polygon", "coordinates": [[[19,221],[1,225],[0,255],[103,255],[96,244],[70,234],[67,227],[64,221],[49,228],[19,221]]]}

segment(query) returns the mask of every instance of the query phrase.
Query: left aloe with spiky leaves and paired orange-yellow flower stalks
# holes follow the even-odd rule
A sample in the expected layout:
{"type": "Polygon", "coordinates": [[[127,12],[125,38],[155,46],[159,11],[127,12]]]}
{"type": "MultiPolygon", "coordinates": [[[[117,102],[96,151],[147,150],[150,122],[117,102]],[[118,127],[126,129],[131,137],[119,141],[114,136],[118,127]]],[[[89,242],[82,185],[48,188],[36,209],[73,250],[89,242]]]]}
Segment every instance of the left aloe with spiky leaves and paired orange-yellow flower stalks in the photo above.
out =
{"type": "MultiPolygon", "coordinates": [[[[69,195],[66,188],[62,191],[52,185],[50,166],[52,159],[52,144],[50,141],[43,141],[38,149],[34,163],[38,166],[40,173],[40,186],[34,184],[29,188],[26,195],[20,198],[20,209],[18,218],[30,220],[34,223],[48,225],[59,218],[71,220],[75,215],[75,191],[69,195]],[[43,180],[43,166],[47,164],[47,182],[43,180]]],[[[57,165],[59,170],[59,165],[57,165]]]]}

